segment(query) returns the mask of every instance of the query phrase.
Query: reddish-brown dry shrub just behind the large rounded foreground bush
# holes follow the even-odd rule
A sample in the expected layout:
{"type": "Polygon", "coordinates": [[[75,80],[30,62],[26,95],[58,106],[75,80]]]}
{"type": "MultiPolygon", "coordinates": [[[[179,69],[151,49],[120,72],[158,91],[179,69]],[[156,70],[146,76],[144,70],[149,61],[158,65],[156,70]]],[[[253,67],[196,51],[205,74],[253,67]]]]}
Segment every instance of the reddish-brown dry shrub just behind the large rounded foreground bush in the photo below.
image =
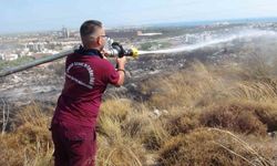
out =
{"type": "Polygon", "coordinates": [[[208,127],[227,128],[237,133],[266,135],[267,127],[255,114],[257,107],[240,102],[224,103],[203,111],[199,121],[208,127]]]}

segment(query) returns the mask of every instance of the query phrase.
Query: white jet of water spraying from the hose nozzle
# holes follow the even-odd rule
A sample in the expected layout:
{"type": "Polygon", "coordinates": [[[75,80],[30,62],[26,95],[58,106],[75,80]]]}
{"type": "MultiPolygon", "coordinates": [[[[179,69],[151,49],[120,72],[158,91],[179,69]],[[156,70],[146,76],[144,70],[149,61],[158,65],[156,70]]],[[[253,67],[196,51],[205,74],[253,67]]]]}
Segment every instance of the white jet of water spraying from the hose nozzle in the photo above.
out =
{"type": "Polygon", "coordinates": [[[230,42],[237,39],[247,39],[247,38],[277,38],[277,32],[275,31],[267,31],[267,30],[244,30],[234,34],[229,34],[223,38],[213,39],[209,41],[205,41],[202,43],[191,44],[191,45],[183,45],[174,49],[164,49],[164,50],[155,50],[155,51],[138,51],[140,54],[158,54],[158,53],[177,53],[177,52],[185,52],[185,51],[193,51],[205,46],[212,46],[219,43],[230,42]]]}

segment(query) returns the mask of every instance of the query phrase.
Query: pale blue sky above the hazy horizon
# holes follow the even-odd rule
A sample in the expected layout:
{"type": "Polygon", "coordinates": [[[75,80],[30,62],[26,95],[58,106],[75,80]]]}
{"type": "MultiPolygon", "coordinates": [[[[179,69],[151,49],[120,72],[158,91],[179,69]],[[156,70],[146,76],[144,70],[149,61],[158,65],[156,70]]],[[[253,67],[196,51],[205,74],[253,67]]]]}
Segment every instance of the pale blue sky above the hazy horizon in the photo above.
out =
{"type": "Polygon", "coordinates": [[[0,0],[0,33],[245,18],[277,18],[277,0],[0,0]]]}

